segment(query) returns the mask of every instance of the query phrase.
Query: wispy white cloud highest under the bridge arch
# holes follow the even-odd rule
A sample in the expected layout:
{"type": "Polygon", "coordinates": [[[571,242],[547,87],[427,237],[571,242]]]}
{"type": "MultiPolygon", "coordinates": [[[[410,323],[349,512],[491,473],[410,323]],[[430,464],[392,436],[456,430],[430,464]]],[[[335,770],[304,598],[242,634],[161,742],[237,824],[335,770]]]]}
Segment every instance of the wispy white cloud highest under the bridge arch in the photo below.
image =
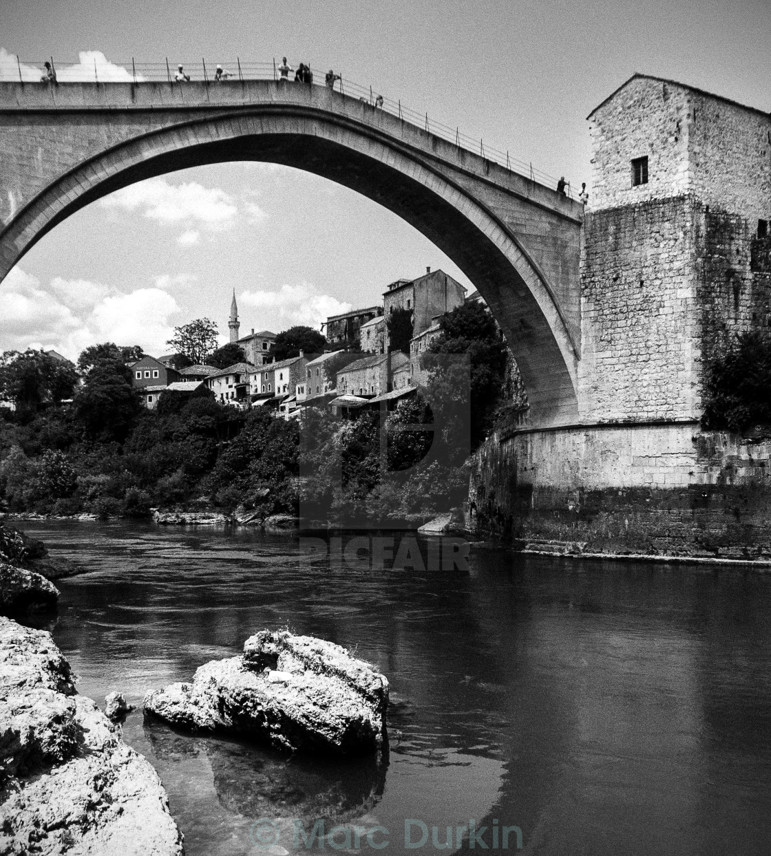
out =
{"type": "Polygon", "coordinates": [[[99,203],[123,211],[142,210],[159,223],[200,223],[212,231],[228,229],[236,222],[238,208],[218,187],[203,187],[197,181],[174,185],[164,178],[148,178],[105,196],[99,203]]]}

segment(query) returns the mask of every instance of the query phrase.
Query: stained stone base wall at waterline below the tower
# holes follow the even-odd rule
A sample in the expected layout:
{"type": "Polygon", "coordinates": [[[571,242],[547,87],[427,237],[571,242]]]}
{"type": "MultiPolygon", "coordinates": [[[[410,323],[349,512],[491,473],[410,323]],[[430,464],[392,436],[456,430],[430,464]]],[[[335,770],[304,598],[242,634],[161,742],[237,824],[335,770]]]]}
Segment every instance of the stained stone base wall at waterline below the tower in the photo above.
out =
{"type": "Polygon", "coordinates": [[[771,557],[771,441],[690,421],[497,433],[472,459],[467,522],[509,543],[771,557]]]}

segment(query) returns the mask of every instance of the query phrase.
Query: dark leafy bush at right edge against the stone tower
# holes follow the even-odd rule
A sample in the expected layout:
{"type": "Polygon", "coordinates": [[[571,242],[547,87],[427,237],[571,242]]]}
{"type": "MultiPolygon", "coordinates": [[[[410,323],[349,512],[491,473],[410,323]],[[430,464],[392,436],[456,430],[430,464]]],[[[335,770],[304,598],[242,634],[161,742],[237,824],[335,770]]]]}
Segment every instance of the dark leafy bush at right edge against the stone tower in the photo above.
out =
{"type": "Polygon", "coordinates": [[[771,333],[742,333],[704,366],[705,428],[771,426],[771,333]]]}

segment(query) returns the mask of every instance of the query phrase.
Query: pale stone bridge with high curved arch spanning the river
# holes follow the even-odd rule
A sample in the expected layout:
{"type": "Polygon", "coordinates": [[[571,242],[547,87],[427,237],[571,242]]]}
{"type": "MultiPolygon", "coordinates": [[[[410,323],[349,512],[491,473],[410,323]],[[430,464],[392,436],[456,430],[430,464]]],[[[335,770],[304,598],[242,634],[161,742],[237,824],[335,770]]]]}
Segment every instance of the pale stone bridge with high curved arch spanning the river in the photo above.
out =
{"type": "Polygon", "coordinates": [[[326,86],[0,83],[0,280],[95,199],[237,160],[322,175],[419,229],[498,319],[531,424],[576,421],[582,206],[326,86]]]}

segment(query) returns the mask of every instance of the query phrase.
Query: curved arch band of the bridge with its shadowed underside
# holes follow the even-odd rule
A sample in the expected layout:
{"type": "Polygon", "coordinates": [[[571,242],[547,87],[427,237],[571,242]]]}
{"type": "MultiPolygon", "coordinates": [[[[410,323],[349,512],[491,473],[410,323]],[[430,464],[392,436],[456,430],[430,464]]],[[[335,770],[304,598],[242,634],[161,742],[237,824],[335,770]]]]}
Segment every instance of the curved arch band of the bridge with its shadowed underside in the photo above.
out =
{"type": "Polygon", "coordinates": [[[283,163],[362,193],[433,241],[499,320],[528,390],[532,423],[576,420],[575,325],[516,232],[463,175],[448,174],[426,152],[371,123],[313,104],[239,105],[175,118],[84,152],[12,211],[0,230],[0,278],[57,223],[135,181],[225,161],[283,163]]]}

